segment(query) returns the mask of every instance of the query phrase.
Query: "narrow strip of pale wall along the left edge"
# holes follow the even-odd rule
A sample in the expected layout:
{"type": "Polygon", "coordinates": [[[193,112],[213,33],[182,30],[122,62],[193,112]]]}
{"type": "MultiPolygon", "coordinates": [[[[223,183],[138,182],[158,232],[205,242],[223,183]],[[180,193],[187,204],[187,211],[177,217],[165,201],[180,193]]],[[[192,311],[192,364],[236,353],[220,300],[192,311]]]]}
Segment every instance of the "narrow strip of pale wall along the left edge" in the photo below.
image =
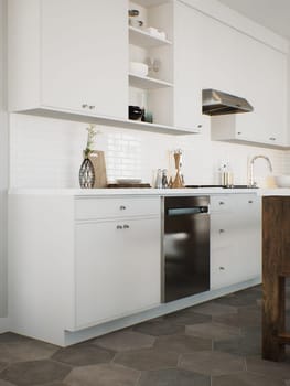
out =
{"type": "Polygon", "coordinates": [[[7,329],[8,115],[6,111],[6,1],[0,0],[0,332],[7,329]]]}

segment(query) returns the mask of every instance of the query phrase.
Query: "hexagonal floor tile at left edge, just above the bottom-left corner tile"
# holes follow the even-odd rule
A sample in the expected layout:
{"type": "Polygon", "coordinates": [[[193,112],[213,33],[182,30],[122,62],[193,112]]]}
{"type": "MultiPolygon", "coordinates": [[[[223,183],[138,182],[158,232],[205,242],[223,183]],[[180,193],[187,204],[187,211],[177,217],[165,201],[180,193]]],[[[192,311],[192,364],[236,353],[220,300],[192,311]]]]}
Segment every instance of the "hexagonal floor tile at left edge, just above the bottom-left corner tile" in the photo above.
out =
{"type": "Polygon", "coordinates": [[[0,344],[0,362],[37,361],[51,357],[57,346],[36,340],[23,340],[0,344]]]}

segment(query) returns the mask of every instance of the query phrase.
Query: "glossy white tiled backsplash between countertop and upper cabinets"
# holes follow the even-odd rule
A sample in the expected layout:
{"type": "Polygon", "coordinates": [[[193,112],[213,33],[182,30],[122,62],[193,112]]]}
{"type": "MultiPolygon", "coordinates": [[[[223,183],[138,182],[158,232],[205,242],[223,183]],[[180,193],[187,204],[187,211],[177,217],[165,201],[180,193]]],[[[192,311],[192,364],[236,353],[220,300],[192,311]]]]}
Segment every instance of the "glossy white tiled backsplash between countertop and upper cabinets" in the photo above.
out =
{"type": "MultiPolygon", "coordinates": [[[[78,187],[78,169],[86,144],[86,124],[11,115],[10,184],[12,187],[78,187]]],[[[96,148],[105,150],[107,172],[114,176],[141,176],[152,183],[158,168],[174,176],[172,151],[183,150],[182,172],[187,184],[218,183],[221,161],[232,165],[235,183],[247,183],[247,162],[254,154],[268,156],[273,173],[284,171],[281,150],[215,142],[210,139],[210,119],[202,135],[168,136],[98,127],[96,148]],[[115,162],[114,163],[114,161],[115,162]],[[133,167],[132,167],[133,164],[133,167]]],[[[255,164],[260,183],[269,174],[267,163],[255,164]]]]}

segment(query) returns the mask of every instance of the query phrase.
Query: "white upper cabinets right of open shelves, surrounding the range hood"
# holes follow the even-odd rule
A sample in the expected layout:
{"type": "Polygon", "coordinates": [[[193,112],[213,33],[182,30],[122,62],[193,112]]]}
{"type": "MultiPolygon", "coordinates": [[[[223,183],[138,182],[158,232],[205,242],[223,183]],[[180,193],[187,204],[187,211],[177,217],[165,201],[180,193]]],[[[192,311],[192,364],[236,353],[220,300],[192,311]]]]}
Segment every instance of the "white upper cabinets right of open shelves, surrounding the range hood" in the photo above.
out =
{"type": "Polygon", "coordinates": [[[254,111],[212,118],[212,139],[288,146],[287,55],[179,2],[174,32],[176,121],[203,124],[202,89],[216,88],[254,111]]]}

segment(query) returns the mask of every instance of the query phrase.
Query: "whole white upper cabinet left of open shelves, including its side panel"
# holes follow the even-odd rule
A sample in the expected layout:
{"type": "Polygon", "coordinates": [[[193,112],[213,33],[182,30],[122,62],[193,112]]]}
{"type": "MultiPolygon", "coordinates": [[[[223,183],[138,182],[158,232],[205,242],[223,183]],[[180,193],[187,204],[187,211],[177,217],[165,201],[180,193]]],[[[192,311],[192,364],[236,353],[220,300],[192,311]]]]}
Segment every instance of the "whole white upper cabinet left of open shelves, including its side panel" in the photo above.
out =
{"type": "Polygon", "coordinates": [[[9,73],[12,111],[127,118],[127,1],[9,1],[9,73]]]}

